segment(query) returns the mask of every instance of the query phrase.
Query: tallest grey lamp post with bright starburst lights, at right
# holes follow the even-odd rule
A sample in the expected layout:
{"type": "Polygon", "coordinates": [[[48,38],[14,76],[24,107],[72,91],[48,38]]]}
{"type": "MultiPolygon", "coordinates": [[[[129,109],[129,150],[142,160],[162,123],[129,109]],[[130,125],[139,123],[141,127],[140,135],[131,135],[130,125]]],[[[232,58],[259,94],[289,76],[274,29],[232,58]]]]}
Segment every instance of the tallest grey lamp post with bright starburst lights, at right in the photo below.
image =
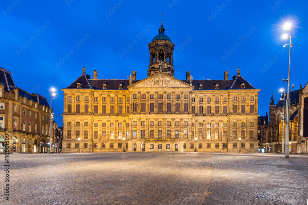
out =
{"type": "MultiPolygon", "coordinates": [[[[293,20],[293,14],[291,18],[291,22],[293,20]]],[[[286,158],[289,158],[289,136],[290,136],[290,67],[291,67],[291,48],[293,47],[292,45],[292,24],[291,23],[286,23],[284,28],[286,30],[290,29],[290,35],[289,34],[284,34],[283,37],[286,39],[290,39],[289,44],[283,45],[283,47],[286,48],[287,45],[290,46],[289,50],[289,70],[288,70],[288,92],[287,92],[287,101],[286,101],[286,158]]]]}

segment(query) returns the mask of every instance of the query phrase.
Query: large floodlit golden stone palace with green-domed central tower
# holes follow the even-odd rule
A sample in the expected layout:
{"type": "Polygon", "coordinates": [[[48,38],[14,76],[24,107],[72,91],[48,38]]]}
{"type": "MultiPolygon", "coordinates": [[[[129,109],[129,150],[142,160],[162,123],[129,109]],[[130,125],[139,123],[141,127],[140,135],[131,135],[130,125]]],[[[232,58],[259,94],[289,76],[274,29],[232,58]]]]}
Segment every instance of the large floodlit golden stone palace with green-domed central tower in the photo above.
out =
{"type": "MultiPolygon", "coordinates": [[[[229,80],[174,77],[171,39],[149,46],[148,77],[93,79],[83,74],[64,92],[62,152],[258,152],[258,92],[241,75],[229,80]]],[[[183,73],[184,74],[184,73],[183,73]]],[[[184,74],[185,75],[185,74],[184,74]]]]}

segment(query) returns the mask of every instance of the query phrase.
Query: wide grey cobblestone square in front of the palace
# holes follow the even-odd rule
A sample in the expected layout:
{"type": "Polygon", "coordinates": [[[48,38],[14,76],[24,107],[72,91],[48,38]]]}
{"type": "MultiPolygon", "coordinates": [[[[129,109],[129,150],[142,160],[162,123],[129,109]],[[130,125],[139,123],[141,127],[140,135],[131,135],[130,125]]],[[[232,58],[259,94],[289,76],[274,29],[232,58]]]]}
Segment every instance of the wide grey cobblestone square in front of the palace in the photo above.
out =
{"type": "MultiPolygon", "coordinates": [[[[4,155],[2,155],[4,161],[4,155]]],[[[306,204],[308,155],[10,154],[1,204],[306,204]]]]}

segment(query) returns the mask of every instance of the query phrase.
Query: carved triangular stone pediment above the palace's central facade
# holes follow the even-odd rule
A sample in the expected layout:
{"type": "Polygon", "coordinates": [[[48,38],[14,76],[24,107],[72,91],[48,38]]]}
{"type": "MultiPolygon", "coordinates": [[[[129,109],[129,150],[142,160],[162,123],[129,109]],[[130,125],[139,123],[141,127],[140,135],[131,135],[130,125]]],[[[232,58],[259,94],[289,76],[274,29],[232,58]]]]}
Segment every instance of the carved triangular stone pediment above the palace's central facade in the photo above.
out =
{"type": "Polygon", "coordinates": [[[193,87],[183,81],[169,76],[166,73],[159,72],[141,81],[138,81],[128,87],[193,87]]]}

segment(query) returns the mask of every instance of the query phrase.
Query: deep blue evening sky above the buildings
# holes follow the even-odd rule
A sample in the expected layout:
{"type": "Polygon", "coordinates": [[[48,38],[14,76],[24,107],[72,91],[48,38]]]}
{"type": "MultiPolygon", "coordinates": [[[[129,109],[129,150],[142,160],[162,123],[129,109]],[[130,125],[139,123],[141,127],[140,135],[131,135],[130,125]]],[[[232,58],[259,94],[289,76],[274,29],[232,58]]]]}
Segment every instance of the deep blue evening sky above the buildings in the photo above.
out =
{"type": "Polygon", "coordinates": [[[289,47],[282,47],[288,40],[281,35],[294,13],[290,83],[299,89],[308,81],[307,0],[2,0],[0,5],[0,67],[11,72],[16,86],[47,99],[50,85],[57,87],[52,108],[59,126],[61,89],[83,67],[91,78],[93,70],[99,79],[127,79],[132,70],[137,79],[147,77],[148,44],[158,34],[161,13],[165,34],[175,44],[175,77],[185,79],[189,70],[194,79],[224,79],[229,71],[232,79],[240,67],[241,76],[261,89],[261,116],[272,92],[278,102],[281,79],[288,78],[289,47]]]}

